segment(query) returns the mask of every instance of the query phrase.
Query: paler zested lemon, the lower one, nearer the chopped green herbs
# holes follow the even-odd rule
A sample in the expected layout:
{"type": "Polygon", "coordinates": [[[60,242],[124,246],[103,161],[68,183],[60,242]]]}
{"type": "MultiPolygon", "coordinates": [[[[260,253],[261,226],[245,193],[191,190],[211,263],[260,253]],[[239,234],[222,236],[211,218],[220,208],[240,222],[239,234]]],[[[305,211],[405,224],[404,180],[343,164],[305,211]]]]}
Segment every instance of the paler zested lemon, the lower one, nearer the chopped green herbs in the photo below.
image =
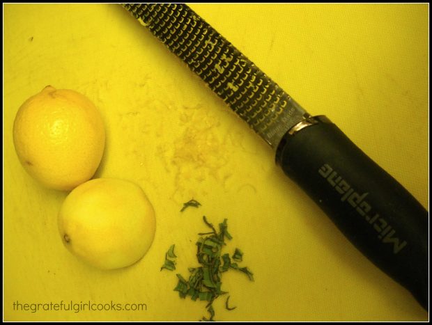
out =
{"type": "Polygon", "coordinates": [[[155,212],[137,184],[98,178],[79,185],[65,198],[59,232],[66,248],[93,267],[128,267],[151,246],[155,212]]]}

